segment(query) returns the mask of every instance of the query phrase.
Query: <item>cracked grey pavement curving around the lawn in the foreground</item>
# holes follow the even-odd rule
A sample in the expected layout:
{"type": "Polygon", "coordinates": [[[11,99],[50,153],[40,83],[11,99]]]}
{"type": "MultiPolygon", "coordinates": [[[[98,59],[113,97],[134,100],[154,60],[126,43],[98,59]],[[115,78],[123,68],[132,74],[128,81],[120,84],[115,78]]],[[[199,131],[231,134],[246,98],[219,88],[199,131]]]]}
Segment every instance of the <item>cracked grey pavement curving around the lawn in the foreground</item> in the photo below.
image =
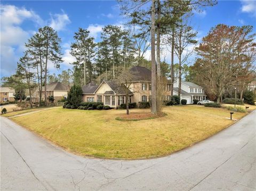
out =
{"type": "Polygon", "coordinates": [[[255,190],[256,111],[186,150],[151,160],[88,159],[1,117],[1,190],[255,190]]]}

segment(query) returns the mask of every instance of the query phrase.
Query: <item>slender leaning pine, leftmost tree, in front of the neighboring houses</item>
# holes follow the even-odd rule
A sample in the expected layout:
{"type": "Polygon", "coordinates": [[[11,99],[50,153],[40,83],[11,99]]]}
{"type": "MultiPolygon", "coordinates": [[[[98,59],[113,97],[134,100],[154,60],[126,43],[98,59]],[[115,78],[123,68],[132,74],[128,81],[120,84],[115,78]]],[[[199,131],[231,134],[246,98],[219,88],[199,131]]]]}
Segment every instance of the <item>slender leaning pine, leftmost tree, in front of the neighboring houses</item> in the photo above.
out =
{"type": "Polygon", "coordinates": [[[17,75],[26,81],[26,84],[29,90],[30,107],[33,107],[31,102],[31,89],[35,87],[35,85],[32,82],[34,78],[34,73],[30,72],[30,69],[33,68],[32,65],[33,63],[29,60],[29,57],[26,52],[25,55],[22,56],[19,62],[17,63],[17,71],[16,71],[17,75]]]}

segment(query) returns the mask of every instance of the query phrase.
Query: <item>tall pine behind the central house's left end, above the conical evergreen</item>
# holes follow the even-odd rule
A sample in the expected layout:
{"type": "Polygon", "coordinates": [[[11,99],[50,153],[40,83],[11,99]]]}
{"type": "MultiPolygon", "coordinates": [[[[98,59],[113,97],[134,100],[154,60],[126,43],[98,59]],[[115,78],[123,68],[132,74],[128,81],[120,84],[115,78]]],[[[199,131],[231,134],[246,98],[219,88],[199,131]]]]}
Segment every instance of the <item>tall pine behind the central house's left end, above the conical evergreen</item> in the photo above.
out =
{"type": "Polygon", "coordinates": [[[84,69],[84,85],[86,85],[86,78],[89,82],[92,80],[93,65],[92,59],[94,57],[94,38],[89,36],[90,31],[87,29],[79,28],[78,32],[75,32],[75,43],[71,44],[70,54],[76,58],[76,63],[83,64],[84,69]],[[86,76],[88,73],[88,77],[86,76]]]}

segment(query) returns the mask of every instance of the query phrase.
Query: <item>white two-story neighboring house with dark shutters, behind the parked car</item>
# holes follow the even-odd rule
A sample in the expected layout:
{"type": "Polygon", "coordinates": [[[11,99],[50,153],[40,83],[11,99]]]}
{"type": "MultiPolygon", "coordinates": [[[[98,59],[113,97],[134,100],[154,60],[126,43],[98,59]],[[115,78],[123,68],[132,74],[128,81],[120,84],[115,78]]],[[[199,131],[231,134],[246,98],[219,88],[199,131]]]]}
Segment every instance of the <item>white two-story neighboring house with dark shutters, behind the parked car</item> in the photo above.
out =
{"type": "MultiPolygon", "coordinates": [[[[179,80],[173,82],[173,95],[178,95],[179,80]]],[[[189,81],[181,81],[180,99],[187,99],[187,104],[193,104],[193,99],[203,101],[206,99],[204,89],[189,81]]]]}

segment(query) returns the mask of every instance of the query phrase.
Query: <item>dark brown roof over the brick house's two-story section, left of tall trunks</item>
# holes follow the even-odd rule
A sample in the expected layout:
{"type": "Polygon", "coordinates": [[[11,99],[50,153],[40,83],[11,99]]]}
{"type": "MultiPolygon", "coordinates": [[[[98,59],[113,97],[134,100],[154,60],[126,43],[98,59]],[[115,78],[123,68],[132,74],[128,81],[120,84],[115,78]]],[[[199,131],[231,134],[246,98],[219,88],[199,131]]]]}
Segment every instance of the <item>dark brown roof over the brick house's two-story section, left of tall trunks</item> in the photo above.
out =
{"type": "Polygon", "coordinates": [[[151,70],[145,67],[132,67],[130,69],[134,73],[133,81],[151,81],[151,70]]]}

